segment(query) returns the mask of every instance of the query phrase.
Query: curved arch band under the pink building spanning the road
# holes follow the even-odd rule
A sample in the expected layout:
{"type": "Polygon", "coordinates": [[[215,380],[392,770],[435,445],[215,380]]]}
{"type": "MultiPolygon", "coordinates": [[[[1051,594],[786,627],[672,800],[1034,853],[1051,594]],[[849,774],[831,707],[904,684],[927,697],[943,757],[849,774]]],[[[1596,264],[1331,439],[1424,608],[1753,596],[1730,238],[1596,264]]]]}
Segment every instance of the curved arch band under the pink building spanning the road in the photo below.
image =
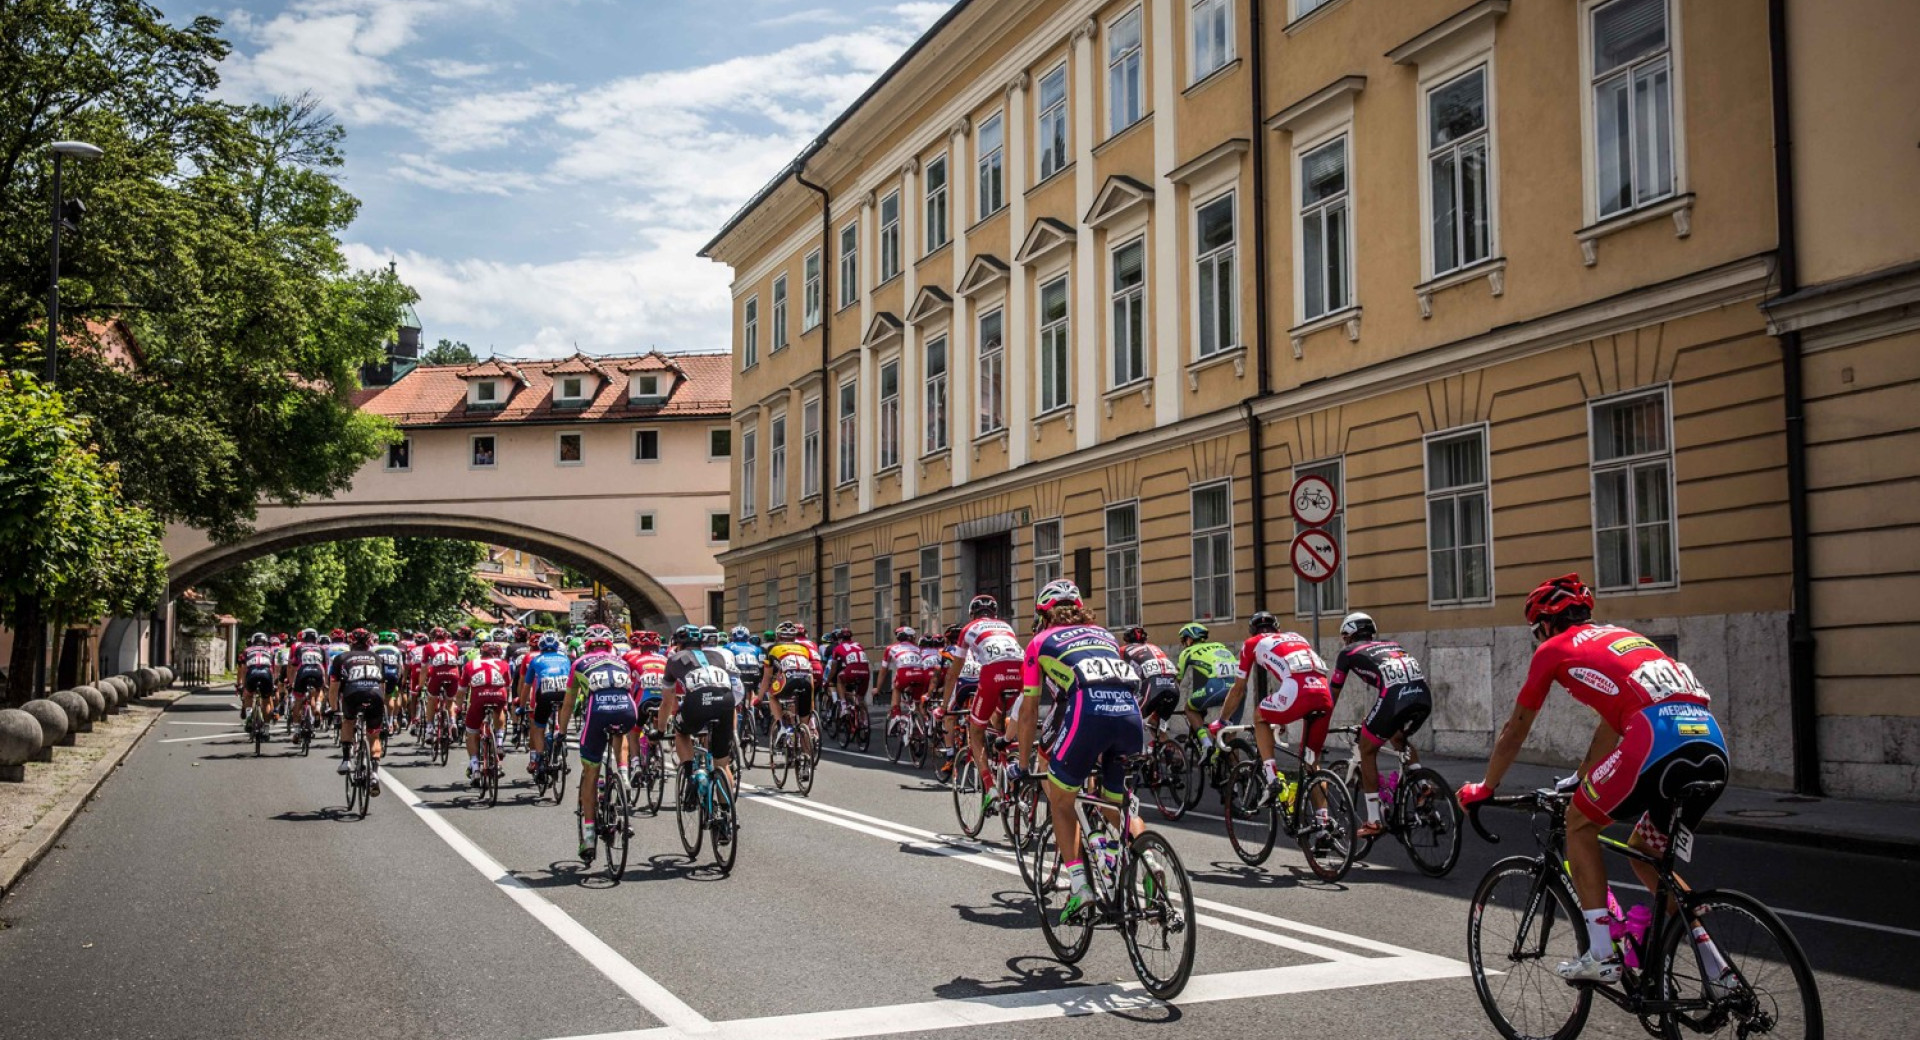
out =
{"type": "Polygon", "coordinates": [[[566,533],[513,520],[438,512],[319,516],[261,530],[232,545],[209,545],[173,560],[167,572],[167,599],[179,599],[180,593],[196,583],[269,553],[353,537],[453,537],[526,549],[597,578],[626,601],[636,627],[664,631],[687,624],[672,591],[616,553],[566,533]]]}

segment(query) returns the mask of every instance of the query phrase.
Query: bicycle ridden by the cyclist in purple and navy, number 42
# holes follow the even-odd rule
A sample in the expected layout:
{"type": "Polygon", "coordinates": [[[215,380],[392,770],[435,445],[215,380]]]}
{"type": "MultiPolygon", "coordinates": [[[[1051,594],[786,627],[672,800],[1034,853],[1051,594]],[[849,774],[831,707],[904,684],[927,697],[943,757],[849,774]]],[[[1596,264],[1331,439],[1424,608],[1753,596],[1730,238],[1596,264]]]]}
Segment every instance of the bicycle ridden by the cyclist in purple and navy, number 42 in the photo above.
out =
{"type": "Polygon", "coordinates": [[[1089,777],[1089,787],[1073,796],[1081,825],[1079,860],[1092,886],[1092,900],[1073,913],[1066,911],[1071,877],[1056,848],[1050,814],[1043,815],[1033,835],[1029,890],[1041,911],[1041,933],[1062,963],[1079,963],[1092,946],[1096,927],[1117,929],[1140,986],[1158,1000],[1173,1000],[1194,969],[1198,921],[1192,883],[1167,839],[1146,829],[1125,837],[1140,825],[1131,769],[1119,806],[1096,789],[1096,777],[1089,777]],[[1108,815],[1116,810],[1117,823],[1108,815]]]}

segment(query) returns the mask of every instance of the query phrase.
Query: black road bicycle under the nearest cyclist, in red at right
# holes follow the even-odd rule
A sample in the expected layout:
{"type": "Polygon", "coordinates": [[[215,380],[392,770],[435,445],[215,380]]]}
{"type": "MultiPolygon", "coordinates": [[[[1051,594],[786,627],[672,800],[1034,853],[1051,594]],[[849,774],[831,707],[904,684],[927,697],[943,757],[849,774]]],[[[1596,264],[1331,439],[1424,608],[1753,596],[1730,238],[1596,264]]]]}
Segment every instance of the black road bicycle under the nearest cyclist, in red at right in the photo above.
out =
{"type": "Polygon", "coordinates": [[[1626,915],[1626,927],[1617,933],[1619,982],[1565,982],[1553,971],[1557,961],[1582,956],[1590,944],[1567,867],[1572,789],[1494,796],[1469,810],[1473,829],[1492,844],[1500,839],[1480,825],[1482,806],[1528,812],[1540,846],[1536,856],[1509,856],[1488,867],[1469,906],[1473,988],[1501,1036],[1572,1040],[1586,1027],[1596,994],[1665,1040],[1722,1032],[1809,1040],[1824,1034],[1812,967],[1780,915],[1743,892],[1695,890],[1674,875],[1674,860],[1692,860],[1693,835],[1682,825],[1688,808],[1711,802],[1722,787],[1720,781],[1680,787],[1667,827],[1672,840],[1657,856],[1599,837],[1601,848],[1647,863],[1659,875],[1645,927],[1636,929],[1636,915],[1626,915]],[[1709,971],[1713,959],[1726,969],[1709,971]]]}

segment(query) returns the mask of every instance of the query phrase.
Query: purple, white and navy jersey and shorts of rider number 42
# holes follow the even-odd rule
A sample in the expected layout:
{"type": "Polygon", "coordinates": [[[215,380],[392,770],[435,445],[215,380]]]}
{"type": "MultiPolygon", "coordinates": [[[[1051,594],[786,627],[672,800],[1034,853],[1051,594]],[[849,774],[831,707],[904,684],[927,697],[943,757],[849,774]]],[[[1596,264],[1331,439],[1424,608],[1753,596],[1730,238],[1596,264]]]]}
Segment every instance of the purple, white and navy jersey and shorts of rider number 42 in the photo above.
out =
{"type": "Polygon", "coordinates": [[[1098,769],[1100,791],[1119,798],[1125,756],[1140,752],[1144,733],[1133,697],[1140,675],[1114,635],[1098,626],[1054,626],[1027,643],[1020,672],[1023,697],[1052,693],[1062,712],[1060,735],[1046,752],[1052,783],[1079,791],[1098,769]]]}

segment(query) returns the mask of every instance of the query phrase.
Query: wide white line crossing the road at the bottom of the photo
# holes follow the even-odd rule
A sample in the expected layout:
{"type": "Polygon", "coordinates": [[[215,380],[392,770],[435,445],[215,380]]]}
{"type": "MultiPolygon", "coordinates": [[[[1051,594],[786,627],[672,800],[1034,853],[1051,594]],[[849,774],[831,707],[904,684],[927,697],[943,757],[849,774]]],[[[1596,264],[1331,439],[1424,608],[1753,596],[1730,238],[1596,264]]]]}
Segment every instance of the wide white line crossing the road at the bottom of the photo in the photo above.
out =
{"type": "MultiPolygon", "coordinates": [[[[1254,971],[1223,971],[1200,975],[1187,982],[1175,1002],[1185,1007],[1219,1000],[1248,1000],[1300,992],[1323,992],[1388,982],[1419,982],[1428,979],[1459,979],[1467,965],[1446,957],[1375,957],[1359,963],[1308,963],[1265,967],[1254,971]]],[[[851,1036],[887,1036],[895,1032],[927,1032],[935,1028],[991,1027],[1100,1015],[1112,1011],[1142,1011],[1160,1002],[1146,996],[1139,982],[1108,986],[1066,986],[1060,990],[975,996],[966,1000],[927,1000],[889,1007],[849,1007],[845,1011],[814,1011],[766,1019],[735,1019],[714,1023],[708,1032],[674,1028],[641,1028],[566,1040],[843,1040],[851,1036]]]]}

